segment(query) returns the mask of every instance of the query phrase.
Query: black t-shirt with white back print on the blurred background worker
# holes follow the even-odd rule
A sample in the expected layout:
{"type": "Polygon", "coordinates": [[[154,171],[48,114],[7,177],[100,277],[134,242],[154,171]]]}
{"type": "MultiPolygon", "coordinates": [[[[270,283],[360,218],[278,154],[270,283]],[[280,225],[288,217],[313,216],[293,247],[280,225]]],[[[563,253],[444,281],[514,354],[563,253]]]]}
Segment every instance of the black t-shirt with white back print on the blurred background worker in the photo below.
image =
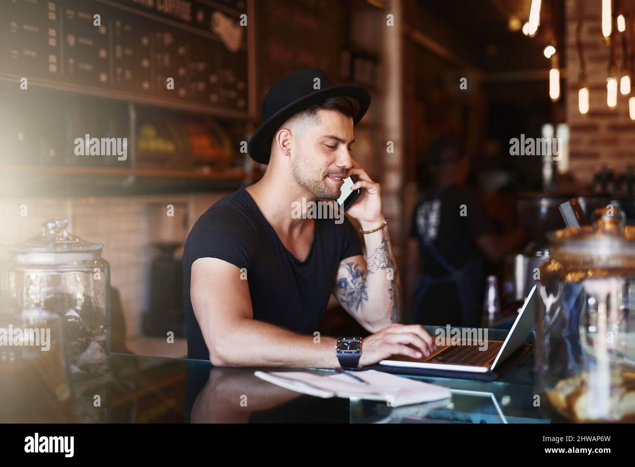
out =
{"type": "Polygon", "coordinates": [[[494,224],[478,192],[467,185],[447,185],[439,190],[438,197],[433,192],[425,195],[415,208],[410,228],[410,237],[419,240],[422,272],[433,277],[448,272],[425,247],[424,240],[432,242],[451,266],[460,269],[481,256],[476,239],[494,233],[494,224]]]}

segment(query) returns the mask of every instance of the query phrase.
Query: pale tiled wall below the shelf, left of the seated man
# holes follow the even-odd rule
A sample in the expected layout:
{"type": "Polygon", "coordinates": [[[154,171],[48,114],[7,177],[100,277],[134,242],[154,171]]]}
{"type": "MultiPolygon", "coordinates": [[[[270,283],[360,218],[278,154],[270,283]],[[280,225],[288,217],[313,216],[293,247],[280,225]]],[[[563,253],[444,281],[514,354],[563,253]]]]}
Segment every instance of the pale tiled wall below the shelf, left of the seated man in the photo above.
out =
{"type": "Polygon", "coordinates": [[[102,256],[110,263],[110,282],[123,301],[128,337],[142,334],[141,316],[149,303],[150,243],[154,240],[183,242],[190,228],[220,197],[219,194],[178,194],[113,197],[15,198],[0,200],[0,246],[6,246],[41,232],[50,218],[69,220],[69,230],[85,240],[104,244],[102,256]],[[157,209],[173,204],[175,216],[167,216],[161,232],[156,232],[157,209]],[[27,216],[20,215],[27,206],[27,216]],[[181,223],[187,210],[189,225],[181,223]],[[173,238],[170,238],[172,232],[173,238]]]}

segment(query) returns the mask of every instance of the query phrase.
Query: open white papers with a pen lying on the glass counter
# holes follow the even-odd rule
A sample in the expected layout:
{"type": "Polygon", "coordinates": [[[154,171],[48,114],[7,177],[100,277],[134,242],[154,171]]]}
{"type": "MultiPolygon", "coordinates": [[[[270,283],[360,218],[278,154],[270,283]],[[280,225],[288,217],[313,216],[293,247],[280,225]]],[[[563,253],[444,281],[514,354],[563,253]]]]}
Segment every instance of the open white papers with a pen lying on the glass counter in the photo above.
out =
{"type": "Polygon", "coordinates": [[[368,400],[382,400],[392,407],[420,404],[431,400],[451,397],[450,390],[443,386],[431,385],[377,370],[355,371],[350,374],[337,373],[321,376],[312,372],[264,372],[254,373],[260,379],[269,381],[291,391],[316,397],[358,397],[368,400]],[[351,375],[370,383],[364,385],[351,375]]]}

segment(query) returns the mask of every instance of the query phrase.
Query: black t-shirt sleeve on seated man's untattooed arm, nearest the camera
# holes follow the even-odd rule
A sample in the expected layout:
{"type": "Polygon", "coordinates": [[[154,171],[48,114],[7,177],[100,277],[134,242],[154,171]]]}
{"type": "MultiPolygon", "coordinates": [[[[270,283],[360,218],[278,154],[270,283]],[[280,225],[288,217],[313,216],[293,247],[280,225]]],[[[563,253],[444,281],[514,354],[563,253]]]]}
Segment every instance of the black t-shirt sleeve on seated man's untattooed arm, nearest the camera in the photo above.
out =
{"type": "Polygon", "coordinates": [[[257,254],[255,227],[229,206],[212,206],[187,236],[184,258],[189,267],[199,258],[218,258],[249,270],[257,254]]]}

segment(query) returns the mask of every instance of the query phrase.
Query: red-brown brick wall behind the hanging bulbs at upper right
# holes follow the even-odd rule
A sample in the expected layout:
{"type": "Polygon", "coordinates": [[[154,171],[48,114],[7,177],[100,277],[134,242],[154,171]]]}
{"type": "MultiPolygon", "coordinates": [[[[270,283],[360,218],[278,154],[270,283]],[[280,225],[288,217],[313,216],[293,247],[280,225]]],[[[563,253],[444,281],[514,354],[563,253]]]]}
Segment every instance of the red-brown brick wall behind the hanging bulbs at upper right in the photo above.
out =
{"type": "MultiPolygon", "coordinates": [[[[604,164],[616,173],[622,173],[627,163],[635,163],[635,122],[629,119],[628,96],[618,94],[616,109],[610,110],[606,106],[610,51],[602,37],[601,1],[583,0],[583,5],[581,39],[589,81],[588,114],[578,112],[580,67],[576,47],[576,0],[565,1],[566,72],[563,76],[566,77],[566,121],[570,128],[570,171],[578,183],[586,185],[592,180],[594,171],[604,164]]],[[[615,51],[619,67],[622,63],[620,43],[616,43],[615,51]]]]}

